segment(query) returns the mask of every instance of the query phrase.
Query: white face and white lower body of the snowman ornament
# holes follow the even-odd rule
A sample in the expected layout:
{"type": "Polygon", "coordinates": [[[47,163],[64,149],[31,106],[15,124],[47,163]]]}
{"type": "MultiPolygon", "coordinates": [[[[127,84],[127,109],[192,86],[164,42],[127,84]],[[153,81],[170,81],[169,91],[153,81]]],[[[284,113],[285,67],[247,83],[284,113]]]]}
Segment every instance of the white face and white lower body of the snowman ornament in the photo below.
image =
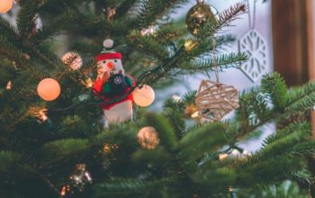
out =
{"type": "MultiPolygon", "coordinates": [[[[113,74],[124,73],[121,59],[107,59],[105,61],[99,61],[98,64],[98,75],[103,75],[104,72],[113,74]],[[112,62],[114,67],[109,68],[108,63],[112,62]]],[[[124,121],[132,120],[132,101],[127,100],[119,102],[112,106],[109,110],[103,109],[103,126],[107,128],[109,124],[121,123],[124,121]]]]}

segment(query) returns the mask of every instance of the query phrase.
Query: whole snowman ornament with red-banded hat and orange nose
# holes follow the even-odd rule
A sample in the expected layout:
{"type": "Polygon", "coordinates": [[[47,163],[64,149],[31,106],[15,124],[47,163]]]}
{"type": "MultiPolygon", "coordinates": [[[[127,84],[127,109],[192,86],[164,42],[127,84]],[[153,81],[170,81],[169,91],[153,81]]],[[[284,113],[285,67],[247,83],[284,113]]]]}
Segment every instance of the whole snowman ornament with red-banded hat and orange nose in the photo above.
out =
{"type": "Polygon", "coordinates": [[[135,85],[132,76],[124,74],[121,53],[112,49],[113,41],[103,41],[103,51],[95,56],[97,61],[97,78],[94,81],[94,94],[103,100],[103,124],[121,123],[132,119],[132,94],[127,94],[135,85]],[[127,94],[127,95],[126,95],[127,94]],[[124,96],[122,99],[121,97],[124,96]],[[113,99],[118,102],[109,103],[113,99]]]}

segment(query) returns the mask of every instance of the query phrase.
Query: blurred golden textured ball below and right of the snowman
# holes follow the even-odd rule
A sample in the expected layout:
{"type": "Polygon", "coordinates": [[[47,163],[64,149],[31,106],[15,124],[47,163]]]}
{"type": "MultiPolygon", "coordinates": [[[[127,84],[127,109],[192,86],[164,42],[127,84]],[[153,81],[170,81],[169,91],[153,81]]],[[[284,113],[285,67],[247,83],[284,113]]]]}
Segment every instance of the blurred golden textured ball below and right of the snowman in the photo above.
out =
{"type": "Polygon", "coordinates": [[[153,127],[143,127],[139,130],[137,139],[142,148],[154,149],[159,143],[157,130],[153,127]]]}

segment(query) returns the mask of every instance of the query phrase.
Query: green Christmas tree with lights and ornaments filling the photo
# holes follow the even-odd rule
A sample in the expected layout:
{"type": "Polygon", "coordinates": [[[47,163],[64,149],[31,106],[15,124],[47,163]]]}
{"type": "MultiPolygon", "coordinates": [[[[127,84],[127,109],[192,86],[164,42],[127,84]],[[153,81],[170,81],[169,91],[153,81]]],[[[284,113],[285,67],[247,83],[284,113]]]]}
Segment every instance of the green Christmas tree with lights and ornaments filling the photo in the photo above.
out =
{"type": "Polygon", "coordinates": [[[248,59],[218,50],[235,40],[222,30],[246,4],[213,14],[199,0],[186,28],[168,17],[186,2],[19,0],[15,26],[3,15],[13,0],[0,0],[0,197],[281,197],[285,187],[314,195],[314,83],[288,89],[267,74],[238,96],[208,79],[163,111],[144,108],[151,87],[248,59]],[[262,148],[239,147],[267,123],[277,131],[262,148]]]}

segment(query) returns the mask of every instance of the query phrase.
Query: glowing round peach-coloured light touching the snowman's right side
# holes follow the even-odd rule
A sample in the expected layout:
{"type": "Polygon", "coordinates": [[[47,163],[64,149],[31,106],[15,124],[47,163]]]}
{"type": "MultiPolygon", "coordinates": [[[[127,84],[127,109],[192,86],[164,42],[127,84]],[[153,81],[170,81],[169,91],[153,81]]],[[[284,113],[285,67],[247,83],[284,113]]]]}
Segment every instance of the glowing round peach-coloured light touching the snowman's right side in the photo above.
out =
{"type": "Polygon", "coordinates": [[[141,107],[147,107],[154,102],[156,94],[154,90],[149,85],[143,85],[142,88],[136,88],[133,91],[133,99],[137,105],[141,107]]]}

